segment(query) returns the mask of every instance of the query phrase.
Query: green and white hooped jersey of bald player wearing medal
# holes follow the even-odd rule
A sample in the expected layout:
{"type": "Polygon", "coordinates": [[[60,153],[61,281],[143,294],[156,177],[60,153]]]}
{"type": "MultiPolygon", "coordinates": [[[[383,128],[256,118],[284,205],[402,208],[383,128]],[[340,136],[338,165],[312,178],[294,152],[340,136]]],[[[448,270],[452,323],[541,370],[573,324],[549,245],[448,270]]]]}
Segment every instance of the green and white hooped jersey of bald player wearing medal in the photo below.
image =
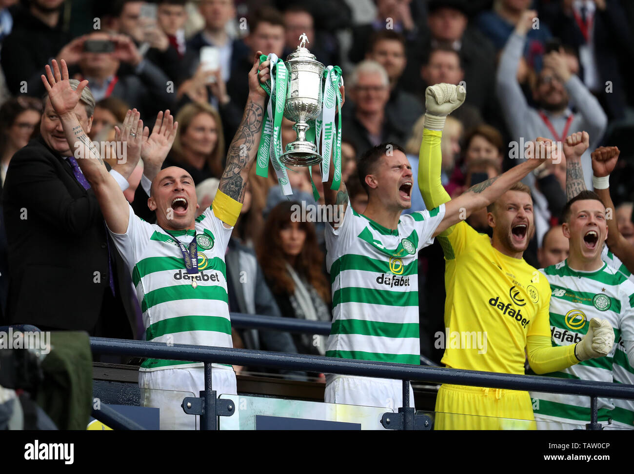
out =
{"type": "MultiPolygon", "coordinates": [[[[231,236],[211,208],[196,219],[197,287],[191,286],[178,243],[156,224],[148,224],[129,208],[125,234],[110,232],[132,274],[143,312],[145,339],[174,344],[233,347],[227,298],[224,252],[231,236]]],[[[186,248],[194,231],[171,231],[186,248]]],[[[188,368],[200,362],[146,359],[141,370],[188,368]]],[[[215,368],[230,366],[214,364],[215,368]]]]}

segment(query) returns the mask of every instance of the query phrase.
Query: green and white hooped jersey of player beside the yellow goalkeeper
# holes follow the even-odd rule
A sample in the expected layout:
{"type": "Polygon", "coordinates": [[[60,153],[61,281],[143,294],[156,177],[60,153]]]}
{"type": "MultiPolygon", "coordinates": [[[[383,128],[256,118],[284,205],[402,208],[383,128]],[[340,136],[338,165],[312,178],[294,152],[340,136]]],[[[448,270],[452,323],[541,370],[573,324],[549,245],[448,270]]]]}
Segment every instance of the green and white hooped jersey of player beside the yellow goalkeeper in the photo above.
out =
{"type": "Polygon", "coordinates": [[[444,204],[401,215],[387,229],[348,203],[338,229],[326,226],[333,322],[326,355],[420,364],[418,251],[433,243],[444,204]]]}

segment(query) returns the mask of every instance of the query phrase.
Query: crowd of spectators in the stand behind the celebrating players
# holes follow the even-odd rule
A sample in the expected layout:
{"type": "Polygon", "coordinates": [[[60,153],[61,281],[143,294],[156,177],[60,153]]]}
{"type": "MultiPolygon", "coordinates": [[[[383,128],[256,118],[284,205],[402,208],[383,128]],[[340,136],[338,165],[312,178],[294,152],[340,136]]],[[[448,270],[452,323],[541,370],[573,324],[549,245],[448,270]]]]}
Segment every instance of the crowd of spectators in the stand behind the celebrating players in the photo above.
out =
{"type": "MultiPolygon", "coordinates": [[[[169,110],[178,130],[163,166],[191,174],[204,208],[242,119],[254,53],[284,58],[302,33],[319,61],[340,65],[344,73],[342,176],[357,212],[367,196],[356,159],[392,141],[405,148],[416,176],[425,87],[449,82],[467,90],[443,133],[442,182],[452,197],[521,161],[522,153],[512,151],[536,136],[562,141],[587,131],[589,150],[603,143],[621,150],[612,197],[621,232],[634,238],[634,96],[624,84],[634,61],[629,1],[0,0],[0,321],[143,338],[132,282],[117,271],[103,224],[95,221],[94,200],[82,188],[68,191],[61,181],[54,186],[43,168],[11,167],[29,141],[67,151],[55,146],[63,132],[42,106],[44,65],[63,59],[70,77],[89,80],[96,103],[94,112],[86,108],[86,131],[98,143],[114,141],[129,109],[150,129],[157,113],[169,110]],[[212,69],[201,62],[209,47],[217,58],[212,69]],[[93,274],[101,276],[98,289],[84,290],[87,281],[96,282],[93,274]],[[68,316],[73,311],[81,316],[68,316]],[[126,319],[130,328],[117,327],[126,319]]],[[[292,125],[285,119],[284,144],[295,138],[292,125]]],[[[64,163],[72,177],[72,163],[64,163]]],[[[592,189],[589,151],[582,164],[592,189]]],[[[122,188],[135,212],[152,221],[143,166],[122,188]]],[[[323,203],[317,167],[288,174],[292,200],[323,203]]],[[[416,181],[406,212],[424,209],[416,181]]],[[[524,256],[539,268],[567,253],[567,240],[553,228],[566,203],[566,163],[549,164],[525,181],[533,194],[536,236],[524,256]]],[[[273,172],[262,178],[254,169],[246,192],[227,249],[231,311],[330,320],[323,222],[292,222],[292,203],[273,172]]],[[[471,215],[469,224],[487,233],[486,210],[471,215]]],[[[421,257],[421,349],[439,361],[432,334],[444,330],[444,262],[438,246],[425,248],[421,257]]],[[[236,347],[249,349],[325,350],[321,337],[249,330],[234,331],[233,338],[236,347]]]]}

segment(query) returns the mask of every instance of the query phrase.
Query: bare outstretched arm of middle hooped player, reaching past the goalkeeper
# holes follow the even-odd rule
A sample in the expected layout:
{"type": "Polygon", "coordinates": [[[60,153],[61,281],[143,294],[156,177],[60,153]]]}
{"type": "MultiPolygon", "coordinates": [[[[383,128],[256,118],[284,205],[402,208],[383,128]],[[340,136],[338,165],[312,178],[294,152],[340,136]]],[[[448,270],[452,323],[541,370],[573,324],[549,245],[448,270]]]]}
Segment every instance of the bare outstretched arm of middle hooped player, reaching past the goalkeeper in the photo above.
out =
{"type": "Polygon", "coordinates": [[[434,236],[467,219],[475,210],[487,207],[494,202],[511,186],[536,169],[543,162],[542,160],[550,159],[551,155],[554,155],[556,147],[557,144],[551,141],[531,142],[528,153],[530,159],[512,167],[500,176],[471,186],[462,196],[446,203],[443,222],[436,228],[434,236]]]}

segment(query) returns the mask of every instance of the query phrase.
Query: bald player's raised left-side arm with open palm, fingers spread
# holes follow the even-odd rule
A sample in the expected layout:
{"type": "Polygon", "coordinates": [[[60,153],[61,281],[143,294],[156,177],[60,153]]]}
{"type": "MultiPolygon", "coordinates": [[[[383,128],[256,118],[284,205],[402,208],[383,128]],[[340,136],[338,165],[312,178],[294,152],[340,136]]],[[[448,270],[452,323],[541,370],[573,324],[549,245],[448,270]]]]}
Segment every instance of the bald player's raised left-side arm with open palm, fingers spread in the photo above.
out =
{"type": "MultiPolygon", "coordinates": [[[[129,221],[129,205],[117,181],[110,175],[106,169],[103,159],[99,155],[86,132],[79,123],[79,119],[75,115],[75,106],[79,103],[79,98],[87,86],[88,81],[82,80],[77,86],[77,90],[73,90],[68,80],[68,68],[66,62],[61,60],[61,73],[57,61],[53,60],[53,71],[46,65],[46,77],[42,75],[42,82],[48,92],[51,105],[55,112],[59,115],[64,134],[70,148],[75,150],[75,156],[79,157],[77,163],[82,173],[91,184],[91,188],[99,202],[101,213],[106,224],[111,231],[117,234],[123,234],[127,231],[129,221]]],[[[139,120],[138,125],[134,126],[134,130],[138,126],[142,127],[139,120]]],[[[141,131],[138,136],[139,144],[141,140],[141,131]]],[[[139,147],[140,148],[140,147],[139,147]]],[[[138,157],[137,157],[138,159],[138,157]]]]}

